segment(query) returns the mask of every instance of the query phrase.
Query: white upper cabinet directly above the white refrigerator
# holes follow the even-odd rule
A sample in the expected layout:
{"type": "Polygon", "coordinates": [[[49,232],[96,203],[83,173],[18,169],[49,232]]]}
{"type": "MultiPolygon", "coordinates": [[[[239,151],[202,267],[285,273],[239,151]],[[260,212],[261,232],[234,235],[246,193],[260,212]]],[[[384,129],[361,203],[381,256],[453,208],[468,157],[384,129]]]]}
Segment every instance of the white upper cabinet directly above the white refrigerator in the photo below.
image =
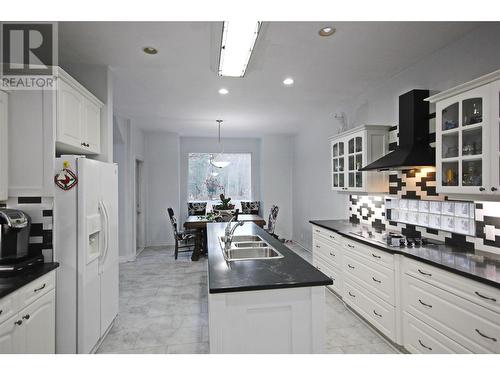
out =
{"type": "Polygon", "coordinates": [[[94,95],[59,70],[56,151],[99,154],[102,107],[94,95]]]}

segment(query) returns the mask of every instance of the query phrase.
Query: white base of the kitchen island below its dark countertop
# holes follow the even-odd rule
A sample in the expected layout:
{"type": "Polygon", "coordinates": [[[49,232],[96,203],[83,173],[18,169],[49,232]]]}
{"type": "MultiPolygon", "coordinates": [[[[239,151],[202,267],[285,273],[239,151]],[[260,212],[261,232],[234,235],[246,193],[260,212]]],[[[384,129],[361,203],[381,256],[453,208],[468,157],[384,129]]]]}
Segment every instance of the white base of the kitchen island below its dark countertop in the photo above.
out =
{"type": "Polygon", "coordinates": [[[212,354],[325,351],[325,289],[320,286],[208,294],[212,354]]]}

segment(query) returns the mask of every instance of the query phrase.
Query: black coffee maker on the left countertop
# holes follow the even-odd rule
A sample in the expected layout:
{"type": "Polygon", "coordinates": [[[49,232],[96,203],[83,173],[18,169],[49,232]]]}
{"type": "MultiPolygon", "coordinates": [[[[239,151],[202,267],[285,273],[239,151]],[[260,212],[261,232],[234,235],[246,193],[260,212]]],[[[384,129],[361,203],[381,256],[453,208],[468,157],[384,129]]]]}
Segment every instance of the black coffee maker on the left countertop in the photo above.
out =
{"type": "Polygon", "coordinates": [[[0,208],[0,264],[28,257],[31,218],[23,211],[0,208]]]}

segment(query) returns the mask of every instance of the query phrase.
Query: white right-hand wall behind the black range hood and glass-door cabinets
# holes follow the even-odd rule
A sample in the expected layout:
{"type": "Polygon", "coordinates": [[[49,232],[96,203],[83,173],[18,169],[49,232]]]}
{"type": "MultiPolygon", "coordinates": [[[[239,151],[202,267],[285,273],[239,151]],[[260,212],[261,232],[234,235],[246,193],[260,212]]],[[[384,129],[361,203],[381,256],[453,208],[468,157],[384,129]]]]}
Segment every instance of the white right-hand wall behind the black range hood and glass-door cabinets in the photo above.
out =
{"type": "MultiPolygon", "coordinates": [[[[499,35],[498,24],[481,26],[363,95],[333,105],[332,114],[345,111],[351,126],[395,125],[398,96],[404,92],[414,88],[445,90],[500,69],[499,35]]],[[[347,218],[347,195],[329,188],[328,137],[337,132],[338,124],[332,119],[311,125],[295,136],[293,157],[293,235],[309,249],[308,220],[347,218]]]]}

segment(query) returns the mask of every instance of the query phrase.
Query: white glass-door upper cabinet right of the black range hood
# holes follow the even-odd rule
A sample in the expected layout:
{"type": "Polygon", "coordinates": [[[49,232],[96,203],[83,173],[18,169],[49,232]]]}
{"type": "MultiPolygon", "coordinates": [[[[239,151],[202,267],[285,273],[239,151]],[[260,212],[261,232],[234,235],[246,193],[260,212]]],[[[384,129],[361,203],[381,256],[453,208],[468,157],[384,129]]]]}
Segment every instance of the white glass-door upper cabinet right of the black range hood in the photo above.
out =
{"type": "Polygon", "coordinates": [[[436,103],[436,190],[498,194],[500,71],[431,96],[436,103]]]}

